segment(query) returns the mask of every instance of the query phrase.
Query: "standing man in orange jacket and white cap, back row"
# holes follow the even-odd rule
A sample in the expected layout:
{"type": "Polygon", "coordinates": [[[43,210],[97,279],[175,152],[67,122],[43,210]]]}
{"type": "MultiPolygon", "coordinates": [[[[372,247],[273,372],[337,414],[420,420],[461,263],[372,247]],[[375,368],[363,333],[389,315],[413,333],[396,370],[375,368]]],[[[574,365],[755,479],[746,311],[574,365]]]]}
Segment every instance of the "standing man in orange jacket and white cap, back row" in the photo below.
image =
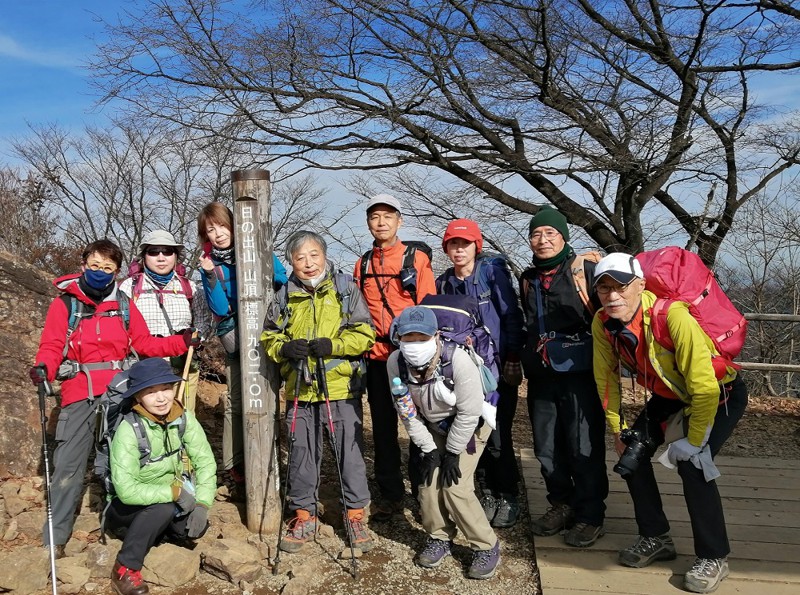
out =
{"type": "Polygon", "coordinates": [[[372,507],[371,520],[384,522],[403,509],[403,475],[397,441],[397,413],[389,390],[386,360],[393,346],[389,327],[400,313],[428,294],[436,293],[428,256],[397,237],[403,224],[400,201],[378,194],[367,202],[367,226],[372,249],[356,261],[353,277],[361,287],[377,341],[367,354],[367,400],[375,444],[375,479],[381,499],[372,507]]]}

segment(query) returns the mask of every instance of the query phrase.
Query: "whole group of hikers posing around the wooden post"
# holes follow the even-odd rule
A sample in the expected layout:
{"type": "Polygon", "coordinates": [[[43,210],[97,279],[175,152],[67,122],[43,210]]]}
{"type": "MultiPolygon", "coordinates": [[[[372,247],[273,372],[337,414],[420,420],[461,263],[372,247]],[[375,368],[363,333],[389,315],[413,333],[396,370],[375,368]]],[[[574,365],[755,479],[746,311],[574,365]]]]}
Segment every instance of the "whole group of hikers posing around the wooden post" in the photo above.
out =
{"type": "MultiPolygon", "coordinates": [[[[352,274],[333,268],[325,239],[313,231],[288,239],[290,275],[273,257],[275,299],[261,341],[285,382],[290,436],[291,517],[280,550],[297,552],[314,539],[328,433],[351,547],[368,552],[367,522],[403,514],[408,479],[427,534],[416,563],[442,564],[460,531],[473,551],[467,576],[494,576],[501,558],[495,529],[513,527],[520,513],[511,429],[524,372],[550,503],[534,514],[534,533],[563,533],[574,547],[604,535],[607,422],[621,457],[614,470],[627,481],[639,533],[619,563],[641,568],[676,557],[651,463],[668,443],[665,458],[680,474],[694,534],[696,560],[684,585],[715,590],[728,574],[730,548],[713,457],[742,416],[747,391],[735,366],[720,364],[687,305],[670,302],[657,321],[639,262],[623,253],[576,254],[567,219],[552,208],[530,221],[532,265],[518,279],[519,293],[507,262],[484,251],[472,220],[447,226],[442,250],[452,266],[438,278],[427,246],[399,239],[403,207],[395,197],[369,199],[366,222],[372,247],[352,274]],[[462,304],[474,323],[466,341],[453,334],[451,318],[462,304]],[[657,323],[665,330],[655,333],[657,323]],[[623,376],[650,395],[631,424],[622,414],[623,376]],[[370,491],[363,456],[364,392],[378,493],[370,491]],[[410,438],[405,473],[398,420],[410,438]]],[[[121,283],[119,247],[89,244],[81,272],[54,282],[61,295],[30,371],[36,384],[62,381],[52,531],[43,530],[45,546],[61,557],[94,444],[95,401],[127,370],[123,397],[132,410],[111,443],[108,496],[109,526],[127,528],[112,571],[121,595],[148,592],[141,568],[156,543],[198,539],[207,529],[216,462],[194,416],[193,352],[211,335],[227,354],[222,468],[234,493],[246,481],[230,209],[218,202],[203,208],[198,237],[199,285],[187,279],[184,246],[167,231],[145,236],[121,283]]]]}

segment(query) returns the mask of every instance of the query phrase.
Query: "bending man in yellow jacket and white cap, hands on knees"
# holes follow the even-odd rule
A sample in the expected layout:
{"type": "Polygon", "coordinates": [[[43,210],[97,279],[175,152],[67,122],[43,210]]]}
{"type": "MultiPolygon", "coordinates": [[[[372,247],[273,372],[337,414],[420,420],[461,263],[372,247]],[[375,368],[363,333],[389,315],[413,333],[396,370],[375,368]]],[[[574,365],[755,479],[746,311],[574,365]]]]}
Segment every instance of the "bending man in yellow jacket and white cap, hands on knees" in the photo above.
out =
{"type": "Polygon", "coordinates": [[[678,468],[694,536],[696,560],[684,587],[710,593],[728,576],[730,553],[713,457],[744,413],[747,388],[688,304],[671,303],[669,337],[656,336],[664,332],[651,320],[658,298],[645,289],[635,258],[609,254],[595,268],[594,284],[603,305],[592,324],[594,376],[620,455],[614,470],[628,483],[639,528],[636,542],[619,552],[619,563],[642,568],[677,555],[650,460],[667,442],[660,460],[678,468]],[[664,346],[670,343],[669,349],[664,346]],[[630,428],[621,409],[622,368],[649,393],[630,428]]]}

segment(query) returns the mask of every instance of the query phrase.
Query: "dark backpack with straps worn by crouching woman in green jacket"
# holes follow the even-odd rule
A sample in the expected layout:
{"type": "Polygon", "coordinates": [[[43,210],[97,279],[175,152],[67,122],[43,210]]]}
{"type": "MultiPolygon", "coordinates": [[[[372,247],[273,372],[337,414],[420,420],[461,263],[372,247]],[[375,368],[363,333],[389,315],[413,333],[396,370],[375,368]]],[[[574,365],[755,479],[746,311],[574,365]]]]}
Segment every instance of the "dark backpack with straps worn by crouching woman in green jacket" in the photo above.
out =
{"type": "Polygon", "coordinates": [[[100,479],[103,489],[108,495],[108,504],[103,509],[100,519],[101,541],[105,543],[105,516],[108,505],[116,495],[114,483],[111,477],[111,441],[114,434],[123,420],[126,420],[136,435],[139,448],[139,466],[144,467],[150,463],[163,460],[170,456],[183,456],[183,435],[186,432],[186,413],[178,418],[178,435],[181,439],[180,449],[166,453],[157,458],[151,458],[152,449],[147,438],[147,432],[141,418],[132,408],[135,404],[133,397],[123,398],[122,395],[128,390],[128,370],[124,370],[114,376],[108,383],[108,388],[100,398],[97,405],[97,430],[95,436],[95,457],[94,473],[100,479]]]}

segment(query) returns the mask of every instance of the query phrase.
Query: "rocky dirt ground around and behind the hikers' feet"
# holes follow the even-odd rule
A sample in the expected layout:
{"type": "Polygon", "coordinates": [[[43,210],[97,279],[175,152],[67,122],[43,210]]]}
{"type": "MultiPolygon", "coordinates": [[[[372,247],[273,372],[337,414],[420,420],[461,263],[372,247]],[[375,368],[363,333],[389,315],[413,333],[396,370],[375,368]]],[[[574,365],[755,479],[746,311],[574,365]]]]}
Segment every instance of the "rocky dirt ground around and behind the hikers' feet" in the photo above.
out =
{"type": "MultiPolygon", "coordinates": [[[[218,403],[222,389],[220,385],[203,385],[198,415],[217,454],[222,433],[222,410],[218,403]]],[[[626,407],[638,410],[641,403],[629,399],[626,407]]],[[[371,477],[370,427],[367,413],[367,471],[371,477]]],[[[520,399],[514,432],[517,448],[532,446],[524,398],[520,399]]],[[[744,419],[722,454],[800,458],[800,401],[751,399],[744,419]]],[[[326,451],[325,455],[330,461],[330,452],[326,451]]],[[[336,510],[335,471],[326,465],[324,472],[329,481],[323,481],[321,500],[328,512],[322,517],[324,525],[318,540],[298,554],[283,554],[276,575],[272,574],[268,560],[277,536],[269,536],[262,543],[250,535],[241,520],[243,505],[229,502],[223,486],[211,512],[212,529],[194,550],[164,544],[148,556],[143,574],[151,593],[469,595],[491,592],[522,595],[536,592],[535,555],[527,530],[529,513],[524,502],[520,523],[498,531],[503,562],[497,576],[489,583],[465,578],[470,551],[463,540],[457,541],[454,557],[436,570],[423,570],[413,564],[414,554],[422,547],[425,535],[418,522],[418,508],[410,496],[406,498],[403,517],[383,525],[370,525],[376,547],[357,560],[358,579],[354,580],[350,561],[338,558],[346,547],[336,510]],[[203,569],[199,570],[201,557],[203,569]]],[[[223,479],[220,477],[221,484],[223,479]]],[[[36,595],[50,592],[47,555],[38,547],[45,516],[42,483],[39,477],[4,478],[0,485],[0,591],[13,588],[15,593],[36,595]]],[[[370,487],[375,488],[372,480],[370,487]]],[[[62,581],[60,593],[111,592],[107,577],[121,542],[110,539],[108,545],[99,543],[98,503],[99,490],[91,484],[73,539],[67,547],[68,556],[58,561],[57,574],[62,581]]]]}

